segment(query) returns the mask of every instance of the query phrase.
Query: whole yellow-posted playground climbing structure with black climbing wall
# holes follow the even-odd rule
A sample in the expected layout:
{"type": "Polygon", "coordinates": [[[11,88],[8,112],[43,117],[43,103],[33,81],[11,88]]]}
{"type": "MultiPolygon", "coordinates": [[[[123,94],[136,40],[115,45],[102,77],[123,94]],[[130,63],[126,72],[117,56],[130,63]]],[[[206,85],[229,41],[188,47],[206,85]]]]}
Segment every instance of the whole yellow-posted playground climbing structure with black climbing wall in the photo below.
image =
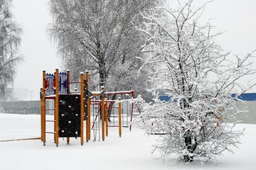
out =
{"type": "MultiPolygon", "coordinates": [[[[41,88],[41,140],[44,146],[46,145],[46,134],[48,133],[54,135],[54,142],[58,147],[59,137],[66,137],[68,144],[70,137],[80,137],[80,143],[83,145],[84,138],[87,142],[90,140],[91,130],[94,132],[94,141],[97,138],[97,133],[100,136],[100,131],[104,141],[110,127],[118,127],[119,137],[122,135],[122,127],[129,127],[129,130],[131,130],[132,125],[130,123],[132,122],[134,102],[132,102],[130,118],[128,118],[128,113],[122,113],[122,98],[119,97],[118,100],[109,98],[111,96],[116,98],[123,94],[134,98],[134,92],[105,92],[104,87],[101,88],[101,91],[89,91],[89,82],[89,72],[87,71],[85,76],[81,72],[80,81],[76,82],[70,81],[69,70],[67,72],[59,72],[56,69],[54,74],[46,74],[46,71],[43,71],[43,88],[41,88]],[[73,84],[79,85],[80,89],[71,91],[70,86],[73,84]],[[46,108],[46,100],[53,100],[54,108],[46,108]],[[118,103],[118,106],[115,106],[114,103],[118,103]],[[114,110],[117,110],[118,115],[112,114],[114,110]],[[46,120],[47,111],[53,111],[54,120],[46,120]],[[124,119],[126,119],[127,125],[122,124],[124,119]],[[112,120],[111,123],[109,120],[112,120]],[[86,121],[85,137],[84,121],[86,121]],[[118,124],[114,124],[114,122],[118,124]],[[54,124],[53,132],[46,131],[46,123],[54,124]]],[[[138,107],[137,109],[139,111],[138,107]]]]}

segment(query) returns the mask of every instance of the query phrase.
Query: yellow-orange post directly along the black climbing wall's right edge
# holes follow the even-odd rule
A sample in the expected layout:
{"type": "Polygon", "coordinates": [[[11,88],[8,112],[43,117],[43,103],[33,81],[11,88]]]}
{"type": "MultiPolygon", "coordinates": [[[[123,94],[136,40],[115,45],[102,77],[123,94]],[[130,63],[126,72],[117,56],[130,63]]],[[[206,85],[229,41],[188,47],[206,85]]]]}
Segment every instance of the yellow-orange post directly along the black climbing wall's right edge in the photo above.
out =
{"type": "Polygon", "coordinates": [[[83,120],[84,120],[84,74],[83,72],[80,73],[80,139],[81,139],[81,145],[84,143],[84,132],[83,132],[83,120]]]}

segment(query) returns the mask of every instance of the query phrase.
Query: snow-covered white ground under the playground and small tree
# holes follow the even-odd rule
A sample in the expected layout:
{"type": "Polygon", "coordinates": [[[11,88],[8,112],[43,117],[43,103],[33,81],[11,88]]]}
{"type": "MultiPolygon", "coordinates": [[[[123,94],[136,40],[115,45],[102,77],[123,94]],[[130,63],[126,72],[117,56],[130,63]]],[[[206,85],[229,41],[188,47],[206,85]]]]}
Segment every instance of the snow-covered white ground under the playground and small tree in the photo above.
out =
{"type": "MultiPolygon", "coordinates": [[[[48,135],[46,147],[41,140],[24,140],[0,142],[0,169],[104,169],[104,170],[161,170],[161,169],[256,169],[256,125],[239,125],[246,128],[239,149],[235,154],[225,153],[201,165],[199,162],[184,164],[169,160],[157,159],[151,154],[151,145],[156,136],[148,137],[144,131],[135,126],[132,132],[123,128],[119,137],[117,128],[111,128],[109,136],[103,142],[85,142],[80,145],[80,138],[70,139],[70,145],[60,138],[59,147],[55,147],[53,135],[48,135]]],[[[29,137],[40,137],[40,115],[0,114],[0,140],[14,140],[29,137]]]]}

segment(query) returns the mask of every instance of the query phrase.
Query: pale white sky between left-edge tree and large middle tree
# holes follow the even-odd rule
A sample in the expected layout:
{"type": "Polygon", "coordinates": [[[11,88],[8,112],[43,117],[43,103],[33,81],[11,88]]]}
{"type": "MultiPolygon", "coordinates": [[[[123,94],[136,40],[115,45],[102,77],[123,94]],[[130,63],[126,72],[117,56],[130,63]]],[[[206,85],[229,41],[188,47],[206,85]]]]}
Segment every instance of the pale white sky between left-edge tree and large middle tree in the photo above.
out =
{"type": "Polygon", "coordinates": [[[48,0],[13,0],[12,12],[24,31],[20,52],[25,59],[18,65],[14,88],[28,89],[33,98],[39,98],[43,70],[53,73],[60,68],[55,46],[46,33],[51,21],[48,0]]]}

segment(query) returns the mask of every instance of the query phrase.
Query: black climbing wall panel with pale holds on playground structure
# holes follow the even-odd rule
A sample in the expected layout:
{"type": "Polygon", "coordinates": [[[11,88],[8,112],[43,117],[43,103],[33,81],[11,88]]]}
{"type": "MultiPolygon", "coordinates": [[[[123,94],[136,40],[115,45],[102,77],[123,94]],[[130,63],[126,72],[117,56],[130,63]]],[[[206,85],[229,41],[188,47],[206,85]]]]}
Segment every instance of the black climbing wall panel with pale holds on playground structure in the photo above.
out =
{"type": "Polygon", "coordinates": [[[80,95],[59,96],[59,137],[80,137],[80,95]]]}

